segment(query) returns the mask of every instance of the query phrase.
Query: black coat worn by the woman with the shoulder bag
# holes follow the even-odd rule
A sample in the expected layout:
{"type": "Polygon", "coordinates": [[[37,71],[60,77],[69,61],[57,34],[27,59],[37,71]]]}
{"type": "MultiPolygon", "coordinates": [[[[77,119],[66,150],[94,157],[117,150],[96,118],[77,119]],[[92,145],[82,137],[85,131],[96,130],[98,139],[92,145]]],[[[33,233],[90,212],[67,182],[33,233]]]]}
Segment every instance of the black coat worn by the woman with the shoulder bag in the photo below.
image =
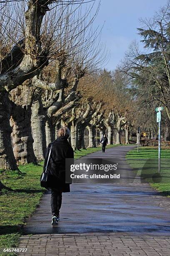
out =
{"type": "MultiPolygon", "coordinates": [[[[47,146],[44,168],[47,164],[51,143],[47,146]]],[[[70,184],[65,183],[65,159],[74,158],[74,151],[66,138],[57,138],[52,143],[52,151],[48,166],[48,189],[70,192],[70,184]],[[60,181],[58,175],[60,173],[60,181]],[[57,182],[56,182],[57,181],[57,182]]]]}

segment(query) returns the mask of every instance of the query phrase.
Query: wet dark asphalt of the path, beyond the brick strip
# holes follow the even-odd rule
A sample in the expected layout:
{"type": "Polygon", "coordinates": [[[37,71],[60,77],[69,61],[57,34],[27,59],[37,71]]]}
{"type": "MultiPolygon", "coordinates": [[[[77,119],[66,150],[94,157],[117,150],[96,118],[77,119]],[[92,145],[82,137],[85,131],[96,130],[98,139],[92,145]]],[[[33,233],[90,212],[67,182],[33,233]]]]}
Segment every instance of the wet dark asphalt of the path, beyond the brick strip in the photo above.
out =
{"type": "MultiPolygon", "coordinates": [[[[132,169],[125,161],[126,153],[133,147],[113,147],[105,153],[92,153],[88,158],[117,159],[123,165],[123,172],[133,175],[132,169]]],[[[47,192],[40,207],[28,219],[24,233],[122,232],[170,236],[169,198],[155,192],[149,184],[141,184],[138,177],[132,179],[132,183],[126,182],[125,178],[121,184],[73,183],[71,192],[63,193],[60,216],[60,224],[53,228],[50,225],[50,192],[47,192]]]]}

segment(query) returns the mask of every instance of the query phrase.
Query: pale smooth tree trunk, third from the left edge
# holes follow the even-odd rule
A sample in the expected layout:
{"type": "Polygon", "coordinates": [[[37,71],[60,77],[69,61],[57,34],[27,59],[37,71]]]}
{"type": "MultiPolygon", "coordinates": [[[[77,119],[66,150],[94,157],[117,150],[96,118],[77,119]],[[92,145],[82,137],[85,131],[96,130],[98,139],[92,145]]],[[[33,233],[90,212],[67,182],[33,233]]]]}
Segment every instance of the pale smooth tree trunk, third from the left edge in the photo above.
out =
{"type": "Polygon", "coordinates": [[[46,117],[42,108],[42,102],[39,98],[32,103],[31,127],[32,137],[34,139],[33,148],[38,161],[42,161],[46,151],[45,123],[46,117]]]}

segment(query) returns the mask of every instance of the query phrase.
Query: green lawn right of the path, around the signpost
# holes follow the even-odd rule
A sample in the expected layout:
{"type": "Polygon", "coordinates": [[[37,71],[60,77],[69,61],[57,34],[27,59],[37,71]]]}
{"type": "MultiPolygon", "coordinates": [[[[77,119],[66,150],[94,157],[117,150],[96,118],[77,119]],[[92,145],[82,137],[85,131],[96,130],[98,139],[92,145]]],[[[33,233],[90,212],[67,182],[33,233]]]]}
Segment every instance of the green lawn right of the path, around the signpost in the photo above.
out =
{"type": "Polygon", "coordinates": [[[126,159],[134,172],[151,187],[170,197],[170,149],[161,149],[161,172],[158,174],[158,148],[140,147],[129,151],[126,159]]]}

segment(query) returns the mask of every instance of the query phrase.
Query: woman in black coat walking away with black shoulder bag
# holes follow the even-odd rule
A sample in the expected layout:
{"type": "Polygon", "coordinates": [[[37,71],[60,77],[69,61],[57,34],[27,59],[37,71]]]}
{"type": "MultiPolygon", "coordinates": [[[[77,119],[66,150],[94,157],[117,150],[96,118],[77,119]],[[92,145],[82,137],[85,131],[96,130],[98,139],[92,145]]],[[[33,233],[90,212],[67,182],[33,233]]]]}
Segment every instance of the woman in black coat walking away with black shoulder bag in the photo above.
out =
{"type": "Polygon", "coordinates": [[[58,130],[58,137],[50,143],[45,154],[44,167],[47,164],[50,147],[52,151],[49,160],[48,190],[51,190],[52,225],[60,220],[60,207],[62,204],[62,192],[70,192],[70,184],[65,183],[65,159],[74,158],[74,151],[68,143],[70,130],[62,127],[58,130]]]}

